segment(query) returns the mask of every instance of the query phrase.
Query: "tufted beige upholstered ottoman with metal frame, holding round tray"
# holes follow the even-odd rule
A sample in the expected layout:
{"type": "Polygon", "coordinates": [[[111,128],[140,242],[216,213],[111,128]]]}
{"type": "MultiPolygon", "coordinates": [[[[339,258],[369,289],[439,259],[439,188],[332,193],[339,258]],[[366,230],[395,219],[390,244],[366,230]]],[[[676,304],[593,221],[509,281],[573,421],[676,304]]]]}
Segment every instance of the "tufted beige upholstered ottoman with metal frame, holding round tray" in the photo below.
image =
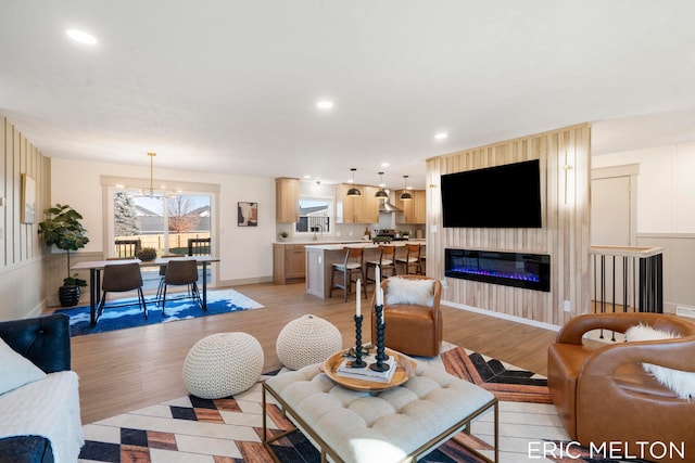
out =
{"type": "MultiPolygon", "coordinates": [[[[493,411],[489,434],[494,436],[494,446],[488,454],[469,450],[485,461],[497,461],[497,399],[485,389],[418,364],[414,376],[401,386],[356,391],[334,383],[321,366],[281,373],[263,386],[264,409],[269,394],[320,448],[321,458],[348,463],[416,461],[462,429],[470,434],[472,421],[493,411]]],[[[264,445],[273,452],[271,442],[288,433],[269,437],[267,414],[264,445]]]]}

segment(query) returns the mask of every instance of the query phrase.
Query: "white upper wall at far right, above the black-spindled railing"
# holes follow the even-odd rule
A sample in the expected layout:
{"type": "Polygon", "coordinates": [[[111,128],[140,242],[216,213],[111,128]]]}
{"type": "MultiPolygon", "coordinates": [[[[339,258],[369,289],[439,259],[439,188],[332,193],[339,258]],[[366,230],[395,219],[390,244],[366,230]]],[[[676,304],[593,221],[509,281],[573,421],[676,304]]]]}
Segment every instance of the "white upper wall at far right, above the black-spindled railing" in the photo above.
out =
{"type": "Polygon", "coordinates": [[[640,164],[637,233],[695,233],[695,143],[592,157],[592,167],[640,164]]]}

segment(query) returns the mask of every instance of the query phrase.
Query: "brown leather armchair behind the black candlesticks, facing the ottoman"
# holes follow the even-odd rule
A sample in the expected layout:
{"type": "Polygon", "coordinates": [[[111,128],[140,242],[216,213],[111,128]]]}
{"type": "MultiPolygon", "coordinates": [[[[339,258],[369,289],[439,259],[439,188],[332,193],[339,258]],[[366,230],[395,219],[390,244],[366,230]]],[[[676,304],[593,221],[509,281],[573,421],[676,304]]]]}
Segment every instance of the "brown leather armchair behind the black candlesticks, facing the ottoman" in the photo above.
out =
{"type": "MultiPolygon", "coordinates": [[[[442,313],[440,298],[442,286],[439,281],[420,275],[392,276],[381,282],[383,288],[383,318],[387,324],[384,331],[386,347],[412,356],[433,357],[438,356],[442,345],[442,313]],[[414,304],[389,305],[389,283],[391,279],[430,280],[432,281],[432,306],[419,306],[414,304]]],[[[371,342],[377,339],[377,323],[374,306],[376,294],[371,297],[371,342]]]]}

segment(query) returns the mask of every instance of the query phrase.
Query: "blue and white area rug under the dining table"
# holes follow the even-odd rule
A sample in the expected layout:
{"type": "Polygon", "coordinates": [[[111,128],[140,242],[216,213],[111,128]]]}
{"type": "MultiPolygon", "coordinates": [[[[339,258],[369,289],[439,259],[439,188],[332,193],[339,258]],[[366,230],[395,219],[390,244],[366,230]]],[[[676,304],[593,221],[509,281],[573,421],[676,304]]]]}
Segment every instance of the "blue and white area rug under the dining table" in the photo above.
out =
{"type": "Polygon", "coordinates": [[[157,307],[154,298],[150,297],[147,299],[148,318],[146,320],[137,303],[137,297],[108,299],[106,307],[94,326],[89,324],[89,306],[59,309],[55,310],[55,313],[70,316],[71,336],[81,336],[85,334],[103,333],[148,324],[168,323],[178,320],[193,319],[195,317],[216,316],[219,313],[238,312],[263,307],[255,300],[233,290],[208,291],[206,311],[203,311],[200,306],[190,298],[168,300],[167,296],[166,309],[163,316],[162,308],[157,307]],[[135,305],[109,307],[110,305],[130,303],[135,305]]]}

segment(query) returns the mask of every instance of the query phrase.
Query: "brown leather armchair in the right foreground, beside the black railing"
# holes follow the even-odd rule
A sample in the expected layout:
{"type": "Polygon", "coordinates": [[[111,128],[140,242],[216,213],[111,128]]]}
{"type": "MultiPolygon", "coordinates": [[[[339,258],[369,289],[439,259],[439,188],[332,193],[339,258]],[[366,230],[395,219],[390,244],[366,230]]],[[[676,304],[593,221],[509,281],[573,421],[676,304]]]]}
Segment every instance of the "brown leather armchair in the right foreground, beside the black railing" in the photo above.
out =
{"type": "MultiPolygon", "coordinates": [[[[682,445],[685,460],[695,461],[695,400],[679,398],[646,373],[643,362],[695,372],[695,323],[661,313],[599,313],[565,324],[547,356],[548,388],[565,428],[585,447],[623,442],[640,455],[637,442],[682,445]],[[640,323],[682,337],[594,348],[582,342],[592,330],[624,333],[640,323]]],[[[654,453],[644,456],[658,460],[654,453]]],[[[658,461],[683,459],[667,452],[658,461]]]]}

